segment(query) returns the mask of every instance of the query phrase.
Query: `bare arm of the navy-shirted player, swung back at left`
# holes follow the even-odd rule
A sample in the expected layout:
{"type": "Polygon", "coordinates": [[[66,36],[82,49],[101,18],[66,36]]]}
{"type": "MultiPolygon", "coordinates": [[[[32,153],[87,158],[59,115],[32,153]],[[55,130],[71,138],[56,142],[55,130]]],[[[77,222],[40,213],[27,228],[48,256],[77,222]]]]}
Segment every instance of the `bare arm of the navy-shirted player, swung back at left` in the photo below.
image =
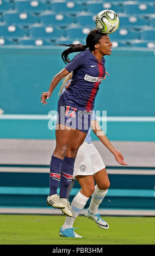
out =
{"type": "Polygon", "coordinates": [[[46,99],[49,99],[49,97],[52,95],[54,88],[57,86],[57,84],[60,82],[60,80],[63,79],[68,74],[69,74],[69,71],[67,71],[64,68],[57,75],[54,76],[54,78],[49,86],[48,92],[41,94],[41,102],[44,105],[47,104],[46,99]]]}

